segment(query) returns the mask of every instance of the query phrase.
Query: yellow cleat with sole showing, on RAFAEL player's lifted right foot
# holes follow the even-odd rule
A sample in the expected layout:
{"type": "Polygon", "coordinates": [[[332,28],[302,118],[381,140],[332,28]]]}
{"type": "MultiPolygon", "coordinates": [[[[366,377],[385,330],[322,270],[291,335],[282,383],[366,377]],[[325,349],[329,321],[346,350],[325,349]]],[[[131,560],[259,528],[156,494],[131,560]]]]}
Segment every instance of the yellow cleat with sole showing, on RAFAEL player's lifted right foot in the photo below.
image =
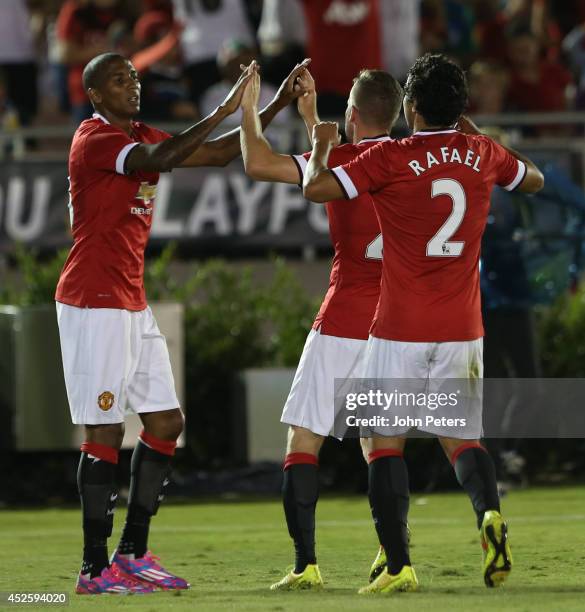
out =
{"type": "Polygon", "coordinates": [[[483,548],[483,579],[487,587],[501,586],[512,571],[508,526],[502,515],[488,510],[480,529],[483,548]]]}

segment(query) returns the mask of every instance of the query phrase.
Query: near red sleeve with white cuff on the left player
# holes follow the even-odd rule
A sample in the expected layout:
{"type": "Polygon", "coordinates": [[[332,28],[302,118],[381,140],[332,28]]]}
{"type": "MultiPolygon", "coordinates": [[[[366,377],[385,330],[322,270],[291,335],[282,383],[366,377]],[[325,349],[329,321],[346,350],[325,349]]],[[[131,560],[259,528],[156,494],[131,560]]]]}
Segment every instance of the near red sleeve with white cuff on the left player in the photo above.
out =
{"type": "Polygon", "coordinates": [[[83,148],[84,162],[94,170],[126,174],[126,157],[138,144],[124,132],[105,126],[87,135],[83,148]]]}

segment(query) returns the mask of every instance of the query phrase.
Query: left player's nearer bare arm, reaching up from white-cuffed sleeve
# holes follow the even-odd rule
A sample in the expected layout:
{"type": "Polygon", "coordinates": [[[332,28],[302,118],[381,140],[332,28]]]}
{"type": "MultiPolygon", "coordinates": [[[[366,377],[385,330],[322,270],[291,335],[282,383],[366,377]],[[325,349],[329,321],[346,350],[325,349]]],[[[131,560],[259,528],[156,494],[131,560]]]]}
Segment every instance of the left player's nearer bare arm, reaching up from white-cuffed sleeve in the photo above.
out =
{"type": "Polygon", "coordinates": [[[177,136],[155,145],[135,146],[126,158],[126,171],[170,172],[202,145],[209,134],[240,105],[242,94],[256,70],[256,63],[242,73],[226,99],[213,113],[177,136]]]}

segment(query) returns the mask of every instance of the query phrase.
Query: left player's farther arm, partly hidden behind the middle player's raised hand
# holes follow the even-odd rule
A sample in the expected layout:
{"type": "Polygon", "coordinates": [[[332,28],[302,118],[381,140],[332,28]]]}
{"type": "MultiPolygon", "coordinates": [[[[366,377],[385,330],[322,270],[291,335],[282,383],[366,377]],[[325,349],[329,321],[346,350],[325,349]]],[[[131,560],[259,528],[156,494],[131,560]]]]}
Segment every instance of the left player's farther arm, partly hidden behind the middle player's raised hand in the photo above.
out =
{"type": "MultiPolygon", "coordinates": [[[[281,110],[285,109],[293,100],[305,92],[302,86],[295,88],[295,83],[298,77],[306,70],[310,61],[310,59],[305,59],[293,68],[282,82],[274,99],[262,110],[260,113],[262,130],[266,129],[281,110]]],[[[240,128],[235,128],[227,132],[227,134],[205,142],[181,166],[227,166],[240,153],[240,128]]]]}

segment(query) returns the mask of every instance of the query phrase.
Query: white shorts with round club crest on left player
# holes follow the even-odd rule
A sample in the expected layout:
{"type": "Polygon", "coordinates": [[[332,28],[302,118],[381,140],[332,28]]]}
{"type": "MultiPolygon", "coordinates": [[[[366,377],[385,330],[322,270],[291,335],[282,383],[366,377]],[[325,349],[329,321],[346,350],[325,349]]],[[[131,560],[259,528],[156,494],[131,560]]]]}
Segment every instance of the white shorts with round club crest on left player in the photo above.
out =
{"type": "Polygon", "coordinates": [[[152,311],[57,302],[65,386],[76,425],[179,407],[165,337],[152,311]]]}

